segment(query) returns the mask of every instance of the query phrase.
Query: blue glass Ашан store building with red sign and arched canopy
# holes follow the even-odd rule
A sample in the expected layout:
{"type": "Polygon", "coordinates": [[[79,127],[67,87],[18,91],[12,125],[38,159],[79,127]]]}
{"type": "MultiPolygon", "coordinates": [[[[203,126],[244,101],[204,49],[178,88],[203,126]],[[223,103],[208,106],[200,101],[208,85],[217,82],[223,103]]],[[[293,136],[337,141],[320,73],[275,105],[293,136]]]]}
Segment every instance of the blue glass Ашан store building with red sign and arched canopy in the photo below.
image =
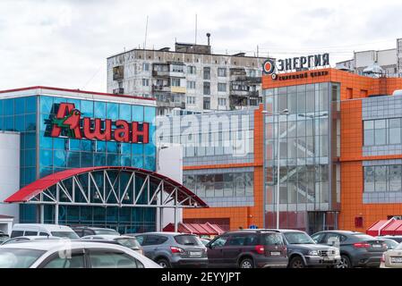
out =
{"type": "Polygon", "coordinates": [[[155,172],[155,116],[152,98],[1,91],[0,219],[155,231],[165,208],[206,206],[155,172]]]}

